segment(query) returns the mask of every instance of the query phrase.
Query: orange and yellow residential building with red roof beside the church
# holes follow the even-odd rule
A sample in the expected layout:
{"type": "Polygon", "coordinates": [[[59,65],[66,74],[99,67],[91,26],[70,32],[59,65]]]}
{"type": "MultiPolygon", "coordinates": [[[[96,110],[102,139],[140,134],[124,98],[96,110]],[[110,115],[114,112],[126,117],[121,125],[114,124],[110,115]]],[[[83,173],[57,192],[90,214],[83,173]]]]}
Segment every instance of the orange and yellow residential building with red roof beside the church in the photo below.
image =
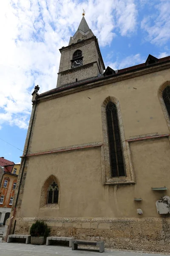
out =
{"type": "Polygon", "coordinates": [[[20,164],[0,157],[0,225],[5,225],[13,204],[20,164]]]}

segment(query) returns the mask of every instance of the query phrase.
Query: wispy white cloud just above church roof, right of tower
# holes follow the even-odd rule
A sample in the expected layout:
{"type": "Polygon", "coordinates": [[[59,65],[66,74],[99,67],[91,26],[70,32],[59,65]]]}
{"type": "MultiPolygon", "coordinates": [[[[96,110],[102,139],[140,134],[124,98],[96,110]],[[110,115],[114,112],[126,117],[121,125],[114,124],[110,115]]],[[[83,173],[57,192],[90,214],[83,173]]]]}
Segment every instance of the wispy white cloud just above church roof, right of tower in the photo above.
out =
{"type": "Polygon", "coordinates": [[[125,67],[131,67],[131,66],[135,66],[137,64],[144,63],[145,61],[146,60],[144,60],[144,58],[142,58],[142,56],[138,53],[136,55],[127,56],[126,58],[124,58],[121,61],[119,61],[119,59],[117,59],[115,62],[111,62],[111,61],[107,62],[106,67],[109,66],[113,70],[120,70],[125,67]]]}

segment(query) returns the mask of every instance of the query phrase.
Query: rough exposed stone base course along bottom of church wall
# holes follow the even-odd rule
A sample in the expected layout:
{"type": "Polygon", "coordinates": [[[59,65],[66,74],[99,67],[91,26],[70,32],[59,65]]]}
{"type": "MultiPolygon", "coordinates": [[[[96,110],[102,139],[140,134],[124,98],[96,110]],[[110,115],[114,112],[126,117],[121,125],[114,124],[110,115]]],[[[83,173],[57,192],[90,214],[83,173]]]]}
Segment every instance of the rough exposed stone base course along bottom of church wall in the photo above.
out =
{"type": "MultiPolygon", "coordinates": [[[[170,253],[170,218],[20,217],[15,219],[15,234],[28,235],[32,223],[36,220],[43,220],[51,227],[51,236],[103,240],[105,241],[105,248],[170,253]]],[[[9,219],[7,222],[6,224],[9,224],[9,219]]]]}

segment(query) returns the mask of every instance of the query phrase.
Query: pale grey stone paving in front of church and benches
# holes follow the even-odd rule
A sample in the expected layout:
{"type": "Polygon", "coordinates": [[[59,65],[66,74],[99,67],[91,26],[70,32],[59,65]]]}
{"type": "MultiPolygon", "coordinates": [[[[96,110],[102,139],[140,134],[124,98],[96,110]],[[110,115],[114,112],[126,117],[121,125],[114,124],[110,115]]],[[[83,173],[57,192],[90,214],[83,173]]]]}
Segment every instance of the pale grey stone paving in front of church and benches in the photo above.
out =
{"type": "MultiPolygon", "coordinates": [[[[71,250],[66,246],[33,245],[23,243],[0,243],[0,256],[162,256],[158,253],[142,253],[124,250],[106,249],[102,254],[95,250],[71,250]]],[[[170,255],[170,254],[166,254],[170,255]]]]}

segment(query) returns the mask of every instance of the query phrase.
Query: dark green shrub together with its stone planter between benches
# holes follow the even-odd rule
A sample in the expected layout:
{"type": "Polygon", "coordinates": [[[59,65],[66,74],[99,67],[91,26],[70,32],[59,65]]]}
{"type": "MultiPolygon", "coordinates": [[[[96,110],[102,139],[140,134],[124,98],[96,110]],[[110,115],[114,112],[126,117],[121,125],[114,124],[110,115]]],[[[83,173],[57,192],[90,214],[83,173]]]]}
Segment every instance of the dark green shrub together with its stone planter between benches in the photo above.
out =
{"type": "Polygon", "coordinates": [[[44,221],[36,221],[30,228],[31,244],[44,244],[47,236],[50,235],[50,227],[44,221]]]}

